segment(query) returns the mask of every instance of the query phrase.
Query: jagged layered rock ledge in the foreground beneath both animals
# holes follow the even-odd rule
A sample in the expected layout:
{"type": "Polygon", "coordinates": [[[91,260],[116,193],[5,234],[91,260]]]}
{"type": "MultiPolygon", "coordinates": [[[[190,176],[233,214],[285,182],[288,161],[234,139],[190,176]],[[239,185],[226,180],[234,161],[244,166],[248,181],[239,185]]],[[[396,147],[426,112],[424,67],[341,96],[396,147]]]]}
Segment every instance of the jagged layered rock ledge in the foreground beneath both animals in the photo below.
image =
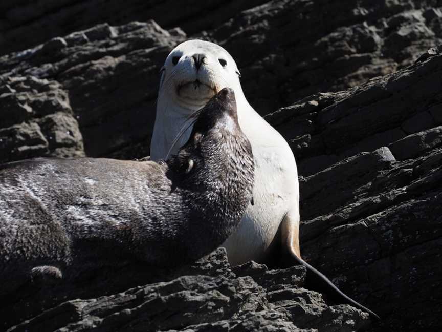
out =
{"type": "MultiPolygon", "coordinates": [[[[138,265],[139,271],[143,269],[146,272],[146,267],[138,265]]],[[[327,306],[321,294],[302,287],[304,277],[302,267],[269,271],[264,265],[250,262],[230,268],[225,250],[218,249],[193,266],[163,274],[162,282],[133,284],[130,289],[95,299],[76,299],[73,295],[73,299],[43,310],[9,331],[252,332],[273,328],[293,332],[338,332],[369,325],[366,313],[348,305],[327,306]],[[165,281],[172,276],[175,278],[165,281]]],[[[129,276],[125,286],[130,286],[131,282],[134,281],[129,276]]],[[[78,287],[78,293],[81,288],[93,288],[94,285],[84,283],[67,287],[71,292],[78,287]]],[[[42,303],[34,301],[32,306],[42,303]]],[[[19,317],[27,310],[11,310],[11,315],[19,317]]]]}

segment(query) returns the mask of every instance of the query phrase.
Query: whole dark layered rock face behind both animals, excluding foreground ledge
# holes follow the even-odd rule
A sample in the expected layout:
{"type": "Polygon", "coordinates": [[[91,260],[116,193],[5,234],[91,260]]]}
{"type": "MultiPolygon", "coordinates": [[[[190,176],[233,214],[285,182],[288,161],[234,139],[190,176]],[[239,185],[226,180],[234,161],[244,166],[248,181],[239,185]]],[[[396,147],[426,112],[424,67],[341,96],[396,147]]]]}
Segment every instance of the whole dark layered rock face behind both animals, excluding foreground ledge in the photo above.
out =
{"type": "Polygon", "coordinates": [[[302,288],[302,269],[230,269],[217,251],[154,277],[137,263],[97,272],[82,293],[38,307],[42,288],[25,301],[32,310],[3,311],[9,326],[19,317],[29,321],[14,330],[441,330],[442,1],[173,6],[2,2],[0,161],[148,155],[164,58],[188,36],[215,41],[295,154],[304,258],[381,325],[325,305],[302,288]]]}

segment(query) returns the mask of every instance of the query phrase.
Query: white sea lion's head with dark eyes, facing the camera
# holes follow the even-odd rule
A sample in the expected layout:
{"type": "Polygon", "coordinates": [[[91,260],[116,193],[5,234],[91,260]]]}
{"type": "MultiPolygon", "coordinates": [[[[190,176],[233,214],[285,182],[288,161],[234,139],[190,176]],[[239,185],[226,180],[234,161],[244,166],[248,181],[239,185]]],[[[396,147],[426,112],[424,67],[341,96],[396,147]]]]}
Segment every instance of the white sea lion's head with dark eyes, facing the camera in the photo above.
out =
{"type": "Polygon", "coordinates": [[[219,45],[187,40],[175,47],[161,68],[160,95],[185,110],[202,108],[223,88],[242,94],[232,56],[219,45]]]}

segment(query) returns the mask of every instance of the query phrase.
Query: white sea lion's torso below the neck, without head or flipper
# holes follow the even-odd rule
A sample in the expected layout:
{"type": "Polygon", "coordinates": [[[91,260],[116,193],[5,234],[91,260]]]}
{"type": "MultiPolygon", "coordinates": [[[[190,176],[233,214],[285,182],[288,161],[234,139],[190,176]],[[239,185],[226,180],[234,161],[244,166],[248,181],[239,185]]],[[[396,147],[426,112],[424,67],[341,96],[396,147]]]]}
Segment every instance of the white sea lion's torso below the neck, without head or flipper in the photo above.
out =
{"type": "MultiPolygon", "coordinates": [[[[254,205],[249,205],[238,230],[223,244],[233,265],[249,260],[268,261],[282,222],[291,223],[293,230],[299,229],[299,184],[292,151],[282,136],[255,111],[244,107],[238,112],[238,119],[243,132],[250,137],[256,181],[254,205]],[[250,113],[246,115],[244,111],[250,113]]],[[[295,246],[299,253],[299,246],[295,246]]]]}

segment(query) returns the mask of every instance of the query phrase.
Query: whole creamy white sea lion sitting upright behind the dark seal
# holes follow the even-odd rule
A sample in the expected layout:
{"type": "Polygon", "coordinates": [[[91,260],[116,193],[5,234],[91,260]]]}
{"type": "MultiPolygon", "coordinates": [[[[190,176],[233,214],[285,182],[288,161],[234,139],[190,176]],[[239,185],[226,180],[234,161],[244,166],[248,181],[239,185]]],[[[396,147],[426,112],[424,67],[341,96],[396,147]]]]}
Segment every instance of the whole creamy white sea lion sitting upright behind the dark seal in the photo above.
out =
{"type": "Polygon", "coordinates": [[[191,129],[173,146],[186,118],[220,89],[235,91],[238,122],[249,138],[255,159],[254,204],[249,205],[238,229],[223,246],[232,265],[249,260],[267,263],[272,251],[307,268],[307,280],[333,289],[345,302],[366,310],[343,294],[328,278],[301,258],[299,246],[299,184],[293,152],[285,139],[250,106],[241,89],[235,60],[222,47],[203,40],[188,40],[175,47],[160,70],[157,114],[150,154],[164,158],[183,144],[191,129]]]}

